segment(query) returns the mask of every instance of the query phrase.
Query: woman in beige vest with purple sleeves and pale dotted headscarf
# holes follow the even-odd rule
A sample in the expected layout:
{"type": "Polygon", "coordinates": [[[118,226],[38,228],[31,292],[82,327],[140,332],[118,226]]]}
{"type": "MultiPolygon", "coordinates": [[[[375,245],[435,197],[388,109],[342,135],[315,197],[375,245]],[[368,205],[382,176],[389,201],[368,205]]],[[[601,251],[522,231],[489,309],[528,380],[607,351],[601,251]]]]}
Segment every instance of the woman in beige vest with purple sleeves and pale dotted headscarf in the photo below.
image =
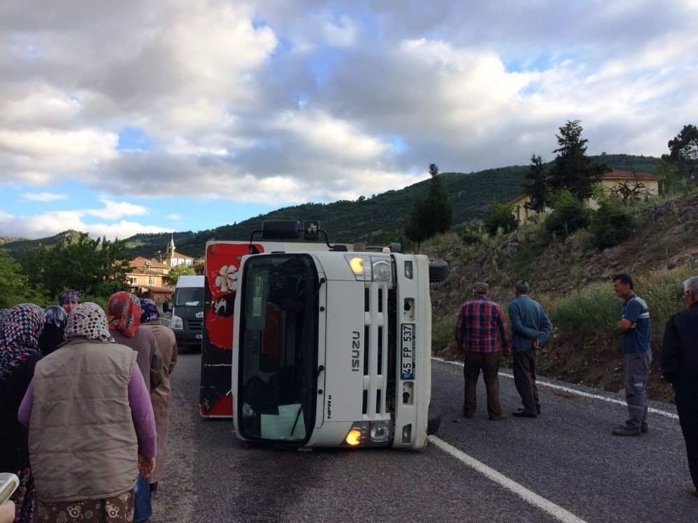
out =
{"type": "Polygon", "coordinates": [[[37,363],[18,413],[29,427],[35,521],[131,522],[135,480],[150,476],[157,453],[137,355],[108,341],[96,303],[73,310],[65,338],[37,363]]]}

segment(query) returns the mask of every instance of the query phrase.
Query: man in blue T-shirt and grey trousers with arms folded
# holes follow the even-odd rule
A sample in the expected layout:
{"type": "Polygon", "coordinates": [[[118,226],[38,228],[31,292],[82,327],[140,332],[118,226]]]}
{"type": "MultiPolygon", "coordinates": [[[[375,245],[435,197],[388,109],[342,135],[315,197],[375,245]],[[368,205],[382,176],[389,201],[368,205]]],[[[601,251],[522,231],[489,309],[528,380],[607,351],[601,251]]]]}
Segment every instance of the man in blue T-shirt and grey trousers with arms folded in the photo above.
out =
{"type": "Polygon", "coordinates": [[[622,336],[623,374],[625,400],[629,418],[625,425],[613,430],[616,436],[639,436],[648,432],[647,425],[647,377],[652,362],[650,340],[652,328],[647,303],[632,291],[632,278],[622,273],[613,277],[615,293],[625,300],[623,315],[616,332],[622,336]]]}

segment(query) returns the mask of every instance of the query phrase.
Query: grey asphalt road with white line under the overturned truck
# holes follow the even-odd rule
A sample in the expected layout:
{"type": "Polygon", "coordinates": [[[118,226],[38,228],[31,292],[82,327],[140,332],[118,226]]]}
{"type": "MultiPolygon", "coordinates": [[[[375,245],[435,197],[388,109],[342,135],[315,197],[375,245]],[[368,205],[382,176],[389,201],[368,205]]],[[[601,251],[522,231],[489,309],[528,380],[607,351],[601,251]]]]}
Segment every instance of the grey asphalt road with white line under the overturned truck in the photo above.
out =
{"type": "MultiPolygon", "coordinates": [[[[477,414],[465,419],[462,367],[435,361],[432,401],[443,420],[426,450],[298,452],[245,446],[232,420],[200,418],[199,362],[183,354],[174,372],[170,456],[152,522],[698,521],[669,404],[652,403],[668,416],[651,414],[649,434],[619,438],[610,431],[625,407],[574,391],[620,395],[550,382],[574,391],[542,386],[542,416],[491,422],[481,382],[477,414]]],[[[503,407],[515,410],[512,379],[500,384],[503,407]]]]}

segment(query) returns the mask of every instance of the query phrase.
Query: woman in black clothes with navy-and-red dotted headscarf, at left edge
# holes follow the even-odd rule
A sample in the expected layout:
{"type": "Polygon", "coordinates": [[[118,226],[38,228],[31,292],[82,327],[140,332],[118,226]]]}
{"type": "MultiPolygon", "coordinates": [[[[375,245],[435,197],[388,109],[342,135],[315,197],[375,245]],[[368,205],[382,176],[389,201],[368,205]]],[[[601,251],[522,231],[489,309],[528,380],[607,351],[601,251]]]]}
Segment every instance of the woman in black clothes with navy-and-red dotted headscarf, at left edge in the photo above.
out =
{"type": "Polygon", "coordinates": [[[15,305],[0,321],[0,472],[20,478],[11,498],[17,506],[15,523],[30,522],[34,513],[27,428],[17,420],[17,409],[41,358],[38,337],[45,321],[43,309],[30,303],[15,305]]]}

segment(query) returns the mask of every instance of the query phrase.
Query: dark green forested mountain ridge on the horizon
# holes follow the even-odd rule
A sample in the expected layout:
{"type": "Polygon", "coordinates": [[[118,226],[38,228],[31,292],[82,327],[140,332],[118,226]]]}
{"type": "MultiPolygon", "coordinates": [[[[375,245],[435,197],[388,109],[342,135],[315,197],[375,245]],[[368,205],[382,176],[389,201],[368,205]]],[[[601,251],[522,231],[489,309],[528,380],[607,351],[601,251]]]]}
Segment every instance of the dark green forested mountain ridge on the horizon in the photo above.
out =
{"type": "MultiPolygon", "coordinates": [[[[611,154],[592,157],[594,161],[606,162],[609,167],[638,172],[653,172],[659,158],[611,154]]],[[[521,183],[528,166],[514,165],[487,169],[480,172],[447,172],[440,174],[443,185],[454,204],[453,224],[470,222],[482,218],[489,203],[496,199],[507,202],[521,194],[521,183]]],[[[380,195],[341,200],[331,204],[302,204],[283,207],[270,213],[255,216],[232,225],[222,225],[200,232],[176,232],[174,244],[177,251],[192,257],[202,257],[206,242],[217,240],[246,240],[262,220],[297,219],[320,220],[322,228],[329,232],[332,241],[378,244],[395,241],[402,236],[403,227],[417,197],[424,195],[429,180],[424,180],[401,190],[389,190],[380,195]]],[[[61,233],[64,234],[64,233],[61,233]]],[[[20,250],[35,247],[40,243],[53,245],[60,235],[40,240],[8,242],[4,248],[16,254],[20,250]]],[[[127,238],[128,254],[154,257],[158,250],[165,251],[170,234],[136,234],[127,238]]]]}

